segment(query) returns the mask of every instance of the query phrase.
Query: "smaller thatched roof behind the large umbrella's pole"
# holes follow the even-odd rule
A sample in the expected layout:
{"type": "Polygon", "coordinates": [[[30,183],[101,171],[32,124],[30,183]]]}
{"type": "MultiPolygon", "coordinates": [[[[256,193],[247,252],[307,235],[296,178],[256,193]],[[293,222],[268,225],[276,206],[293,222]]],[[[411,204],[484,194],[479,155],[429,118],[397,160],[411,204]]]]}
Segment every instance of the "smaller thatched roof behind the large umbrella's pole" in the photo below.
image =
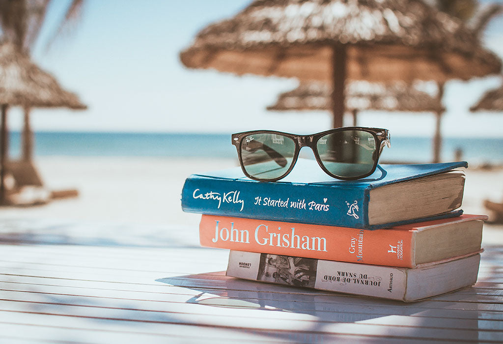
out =
{"type": "MultiPolygon", "coordinates": [[[[296,89],[282,93],[272,111],[312,111],[331,109],[331,87],[323,82],[303,82],[296,89]]],[[[404,112],[443,112],[441,100],[414,85],[395,82],[391,85],[353,81],[346,89],[346,109],[404,112]]]]}

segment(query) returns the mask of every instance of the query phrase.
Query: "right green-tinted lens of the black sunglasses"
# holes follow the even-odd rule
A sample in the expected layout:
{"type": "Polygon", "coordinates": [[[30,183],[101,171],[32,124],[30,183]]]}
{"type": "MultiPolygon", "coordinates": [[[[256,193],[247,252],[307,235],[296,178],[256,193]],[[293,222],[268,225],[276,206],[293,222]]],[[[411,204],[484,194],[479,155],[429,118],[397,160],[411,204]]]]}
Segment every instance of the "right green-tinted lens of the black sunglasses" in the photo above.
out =
{"type": "Polygon", "coordinates": [[[333,175],[358,178],[374,168],[376,140],[361,130],[344,130],[321,137],[316,148],[323,166],[333,175]]]}

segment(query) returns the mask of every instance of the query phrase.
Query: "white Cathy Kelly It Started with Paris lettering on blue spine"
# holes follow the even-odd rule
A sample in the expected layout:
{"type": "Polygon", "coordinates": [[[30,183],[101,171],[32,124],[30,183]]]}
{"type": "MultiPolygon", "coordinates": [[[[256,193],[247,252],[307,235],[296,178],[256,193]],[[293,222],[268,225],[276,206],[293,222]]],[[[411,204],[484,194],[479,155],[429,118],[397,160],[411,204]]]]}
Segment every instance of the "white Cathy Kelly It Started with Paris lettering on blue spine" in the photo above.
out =
{"type": "MultiPolygon", "coordinates": [[[[239,211],[243,210],[244,200],[239,198],[239,191],[232,190],[224,193],[218,193],[214,191],[203,192],[199,189],[194,190],[192,193],[192,197],[194,199],[201,200],[212,200],[216,201],[217,208],[220,209],[222,203],[230,203],[237,204],[240,206],[239,211]]],[[[286,200],[282,198],[272,198],[272,197],[255,197],[254,205],[260,207],[273,207],[273,208],[295,208],[295,209],[304,209],[311,211],[328,211],[330,209],[330,205],[326,204],[327,199],[323,198],[323,203],[318,203],[315,201],[306,201],[306,199],[297,199],[295,201],[290,201],[288,197],[286,200]]]]}

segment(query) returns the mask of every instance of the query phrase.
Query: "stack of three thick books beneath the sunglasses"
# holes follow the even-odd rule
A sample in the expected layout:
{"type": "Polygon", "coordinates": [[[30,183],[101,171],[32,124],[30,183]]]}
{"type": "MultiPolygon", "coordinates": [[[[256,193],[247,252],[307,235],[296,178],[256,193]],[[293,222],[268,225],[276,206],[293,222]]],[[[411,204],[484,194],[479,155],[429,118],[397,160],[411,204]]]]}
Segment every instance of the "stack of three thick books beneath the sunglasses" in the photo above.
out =
{"type": "Polygon", "coordinates": [[[416,301],[473,285],[483,215],[463,215],[466,162],[380,165],[356,181],[299,159],[279,182],[239,167],[187,178],[203,246],[230,249],[227,276],[416,301]]]}

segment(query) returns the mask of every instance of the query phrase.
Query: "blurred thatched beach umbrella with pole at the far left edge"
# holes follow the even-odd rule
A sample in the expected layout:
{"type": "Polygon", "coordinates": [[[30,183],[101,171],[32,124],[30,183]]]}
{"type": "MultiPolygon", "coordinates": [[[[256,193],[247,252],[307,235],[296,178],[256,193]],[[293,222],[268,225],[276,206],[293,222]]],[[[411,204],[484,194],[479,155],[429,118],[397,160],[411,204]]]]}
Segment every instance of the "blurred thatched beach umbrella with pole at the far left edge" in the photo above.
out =
{"type": "MultiPolygon", "coordinates": [[[[61,88],[56,79],[30,61],[29,57],[19,51],[12,43],[0,45],[0,201],[5,200],[6,162],[8,158],[7,110],[9,106],[70,109],[86,109],[78,97],[61,88]]],[[[26,121],[23,130],[26,135],[31,131],[26,121]]],[[[30,139],[29,137],[25,137],[30,139]]]]}

